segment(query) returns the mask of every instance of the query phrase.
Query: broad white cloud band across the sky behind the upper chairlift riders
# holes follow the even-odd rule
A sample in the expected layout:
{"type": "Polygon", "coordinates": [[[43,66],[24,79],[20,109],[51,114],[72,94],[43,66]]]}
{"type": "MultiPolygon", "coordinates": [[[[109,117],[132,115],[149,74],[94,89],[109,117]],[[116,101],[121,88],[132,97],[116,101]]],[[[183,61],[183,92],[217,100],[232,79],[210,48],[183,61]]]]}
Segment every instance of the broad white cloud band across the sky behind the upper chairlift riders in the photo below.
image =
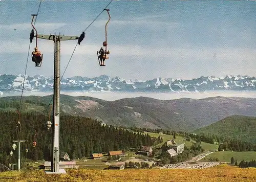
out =
{"type": "MultiPolygon", "coordinates": [[[[35,40],[33,40],[35,44],[35,40]]],[[[62,41],[61,55],[71,55],[77,40],[62,41]]],[[[27,54],[29,40],[24,41],[17,39],[16,41],[0,41],[0,54],[27,54]]],[[[39,39],[38,48],[43,54],[53,54],[54,42],[39,39]]],[[[95,56],[100,49],[95,44],[77,45],[75,55],[95,56]]],[[[154,57],[154,58],[170,58],[170,59],[190,59],[190,60],[223,60],[223,61],[243,61],[255,60],[256,50],[247,48],[203,48],[203,47],[141,47],[139,45],[115,45],[109,44],[108,49],[111,56],[136,56],[136,57],[154,57]]],[[[33,45],[31,46],[31,52],[33,45]]]]}

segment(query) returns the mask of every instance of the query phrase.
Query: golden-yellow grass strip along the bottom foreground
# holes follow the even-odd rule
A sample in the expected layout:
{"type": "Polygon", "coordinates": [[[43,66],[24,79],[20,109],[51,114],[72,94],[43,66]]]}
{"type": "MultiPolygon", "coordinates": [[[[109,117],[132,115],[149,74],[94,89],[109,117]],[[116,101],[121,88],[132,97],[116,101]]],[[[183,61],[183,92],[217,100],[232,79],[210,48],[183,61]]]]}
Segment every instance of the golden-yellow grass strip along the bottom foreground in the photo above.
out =
{"type": "Polygon", "coordinates": [[[228,166],[207,169],[67,169],[67,174],[47,175],[43,170],[2,172],[0,181],[256,181],[256,169],[228,166]]]}

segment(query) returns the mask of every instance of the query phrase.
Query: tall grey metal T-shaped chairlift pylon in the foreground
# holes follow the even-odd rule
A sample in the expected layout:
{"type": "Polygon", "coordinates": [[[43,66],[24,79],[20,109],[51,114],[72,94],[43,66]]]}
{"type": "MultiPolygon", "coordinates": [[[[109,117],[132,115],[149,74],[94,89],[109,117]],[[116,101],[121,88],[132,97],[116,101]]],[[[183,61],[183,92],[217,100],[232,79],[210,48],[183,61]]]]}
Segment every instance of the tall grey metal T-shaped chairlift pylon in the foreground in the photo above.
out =
{"type": "Polygon", "coordinates": [[[37,35],[37,38],[54,41],[54,89],[53,89],[53,137],[52,137],[52,159],[51,172],[47,173],[66,173],[65,170],[59,171],[59,117],[60,117],[60,41],[76,40],[77,36],[61,35],[37,35]]]}

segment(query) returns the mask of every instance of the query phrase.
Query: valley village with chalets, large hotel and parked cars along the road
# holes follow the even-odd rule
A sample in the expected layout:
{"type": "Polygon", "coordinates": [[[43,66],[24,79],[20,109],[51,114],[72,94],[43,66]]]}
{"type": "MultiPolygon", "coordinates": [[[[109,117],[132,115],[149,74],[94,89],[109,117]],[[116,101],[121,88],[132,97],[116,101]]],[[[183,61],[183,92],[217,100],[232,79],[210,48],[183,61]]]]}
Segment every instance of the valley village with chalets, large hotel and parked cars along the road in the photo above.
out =
{"type": "MultiPolygon", "coordinates": [[[[167,151],[170,157],[174,157],[184,151],[184,144],[177,144],[174,139],[167,141],[167,151]]],[[[67,152],[60,153],[60,168],[100,168],[100,169],[116,169],[122,170],[125,168],[160,168],[160,169],[173,169],[173,168],[208,168],[219,165],[219,163],[199,162],[203,157],[212,153],[208,151],[193,157],[192,160],[177,164],[162,165],[159,158],[153,156],[153,146],[141,146],[138,151],[109,151],[108,153],[92,153],[88,158],[78,158],[77,160],[71,160],[67,152]]],[[[41,165],[42,166],[42,165],[41,165]]],[[[49,169],[51,162],[44,162],[42,168],[49,169]]]]}

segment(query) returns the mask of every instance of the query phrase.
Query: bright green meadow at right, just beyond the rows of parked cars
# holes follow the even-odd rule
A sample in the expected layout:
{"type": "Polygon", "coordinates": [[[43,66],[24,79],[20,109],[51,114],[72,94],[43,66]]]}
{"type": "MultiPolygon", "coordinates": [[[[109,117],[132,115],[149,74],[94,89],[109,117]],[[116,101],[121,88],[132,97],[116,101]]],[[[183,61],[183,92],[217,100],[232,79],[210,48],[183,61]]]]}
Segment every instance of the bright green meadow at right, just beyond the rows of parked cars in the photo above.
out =
{"type": "Polygon", "coordinates": [[[237,160],[238,163],[242,160],[251,161],[256,160],[256,152],[231,152],[231,151],[221,151],[214,152],[206,156],[200,161],[208,161],[209,158],[218,158],[220,162],[230,163],[230,158],[234,157],[234,160],[237,160]]]}

